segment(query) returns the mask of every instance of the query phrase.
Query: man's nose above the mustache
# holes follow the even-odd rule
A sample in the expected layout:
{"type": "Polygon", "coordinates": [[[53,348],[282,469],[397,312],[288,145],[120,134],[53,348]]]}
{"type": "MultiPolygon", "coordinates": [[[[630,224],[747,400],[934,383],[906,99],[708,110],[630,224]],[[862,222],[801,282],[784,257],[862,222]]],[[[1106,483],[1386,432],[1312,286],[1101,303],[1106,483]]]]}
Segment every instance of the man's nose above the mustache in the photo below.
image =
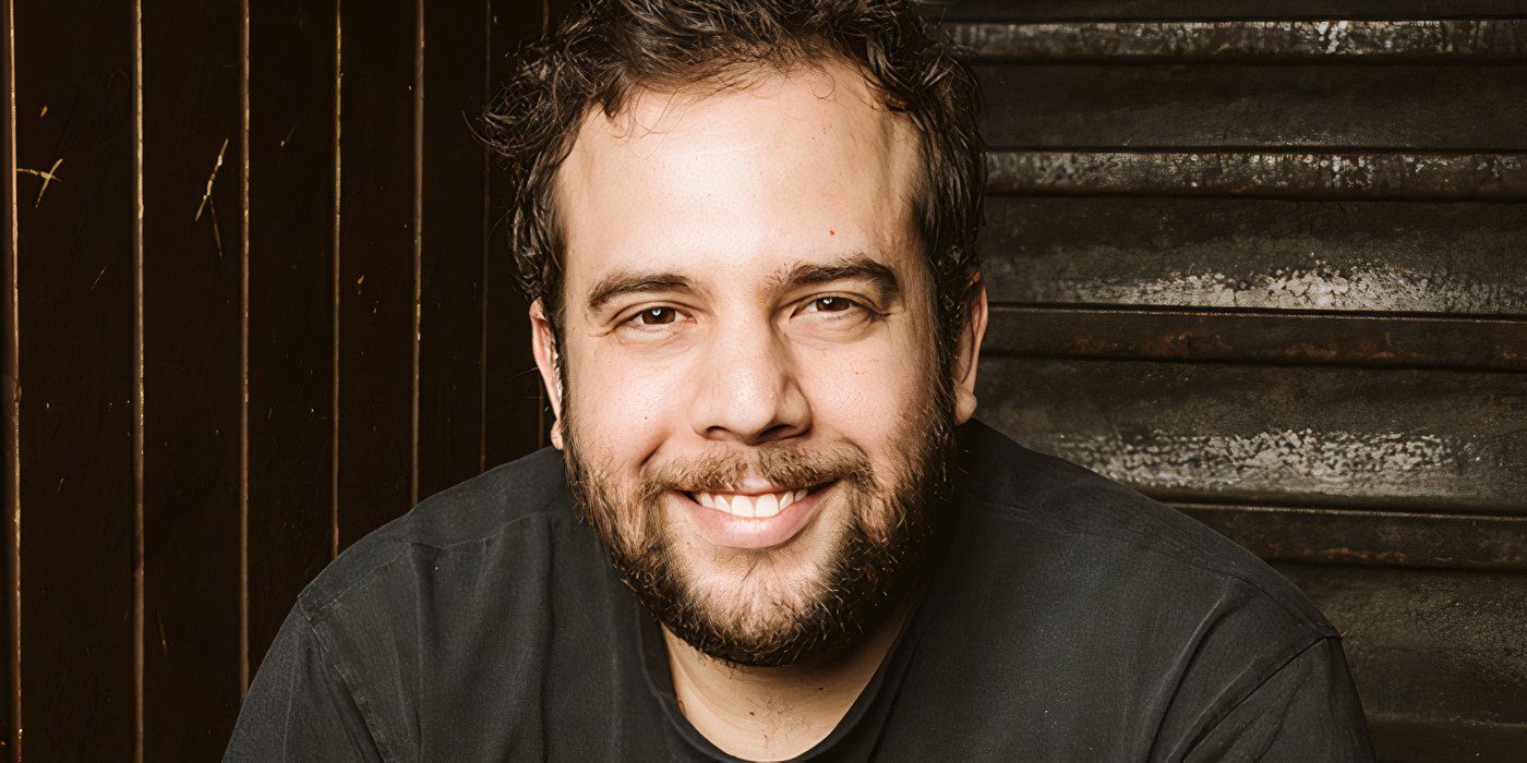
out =
{"type": "Polygon", "coordinates": [[[756,446],[811,429],[789,351],[767,322],[713,333],[698,371],[690,421],[701,436],[756,446]]]}

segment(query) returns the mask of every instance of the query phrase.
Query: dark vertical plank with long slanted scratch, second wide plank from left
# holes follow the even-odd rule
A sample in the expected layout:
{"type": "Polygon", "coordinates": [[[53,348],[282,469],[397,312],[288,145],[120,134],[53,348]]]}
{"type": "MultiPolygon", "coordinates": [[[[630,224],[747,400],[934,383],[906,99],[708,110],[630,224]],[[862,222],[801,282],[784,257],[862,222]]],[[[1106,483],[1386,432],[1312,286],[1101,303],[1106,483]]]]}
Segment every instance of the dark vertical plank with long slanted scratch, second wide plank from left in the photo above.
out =
{"type": "Polygon", "coordinates": [[[142,24],[144,757],[211,760],[243,694],[243,12],[142,24]]]}

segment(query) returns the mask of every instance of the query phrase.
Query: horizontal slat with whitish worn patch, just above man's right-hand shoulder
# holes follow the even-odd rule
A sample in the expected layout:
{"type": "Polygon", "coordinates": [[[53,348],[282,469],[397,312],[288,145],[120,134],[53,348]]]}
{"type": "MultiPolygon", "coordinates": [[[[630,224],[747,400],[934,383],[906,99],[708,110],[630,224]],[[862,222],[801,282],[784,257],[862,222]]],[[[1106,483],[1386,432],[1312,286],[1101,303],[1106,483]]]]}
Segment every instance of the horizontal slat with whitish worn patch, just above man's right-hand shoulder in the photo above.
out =
{"type": "Polygon", "coordinates": [[[1521,514],[1527,375],[986,357],[980,418],[1147,493],[1521,514]]]}

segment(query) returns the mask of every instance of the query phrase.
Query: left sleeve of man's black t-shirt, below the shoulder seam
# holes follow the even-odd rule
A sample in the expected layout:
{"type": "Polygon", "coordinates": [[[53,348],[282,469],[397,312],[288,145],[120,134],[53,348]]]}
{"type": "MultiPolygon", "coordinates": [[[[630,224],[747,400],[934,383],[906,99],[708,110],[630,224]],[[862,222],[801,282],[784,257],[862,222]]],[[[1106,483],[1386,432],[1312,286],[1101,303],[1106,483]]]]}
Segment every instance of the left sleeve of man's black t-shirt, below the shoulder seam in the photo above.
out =
{"type": "Polygon", "coordinates": [[[224,761],[382,760],[353,693],[293,610],[238,713],[224,761]]]}

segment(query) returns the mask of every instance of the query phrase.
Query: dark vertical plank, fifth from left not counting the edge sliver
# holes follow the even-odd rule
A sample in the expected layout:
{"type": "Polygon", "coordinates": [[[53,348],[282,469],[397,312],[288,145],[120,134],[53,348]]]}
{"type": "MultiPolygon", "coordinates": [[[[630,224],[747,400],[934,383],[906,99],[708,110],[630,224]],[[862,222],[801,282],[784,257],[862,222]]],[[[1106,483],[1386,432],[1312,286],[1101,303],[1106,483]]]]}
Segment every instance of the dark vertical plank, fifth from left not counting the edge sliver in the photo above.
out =
{"type": "Polygon", "coordinates": [[[418,494],[481,472],[487,3],[425,14],[425,218],[418,494]],[[472,76],[479,75],[479,76],[472,76]]]}

